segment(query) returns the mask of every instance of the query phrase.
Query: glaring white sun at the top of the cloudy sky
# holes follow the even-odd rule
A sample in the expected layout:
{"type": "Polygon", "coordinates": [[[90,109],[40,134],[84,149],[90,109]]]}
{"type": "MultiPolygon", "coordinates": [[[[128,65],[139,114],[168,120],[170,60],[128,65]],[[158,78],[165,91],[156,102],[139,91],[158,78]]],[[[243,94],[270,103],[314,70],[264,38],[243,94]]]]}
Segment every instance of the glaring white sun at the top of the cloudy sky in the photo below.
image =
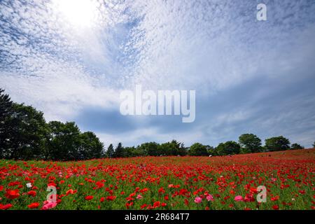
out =
{"type": "Polygon", "coordinates": [[[53,0],[53,8],[71,25],[85,28],[97,22],[97,4],[92,0],[53,0]]]}

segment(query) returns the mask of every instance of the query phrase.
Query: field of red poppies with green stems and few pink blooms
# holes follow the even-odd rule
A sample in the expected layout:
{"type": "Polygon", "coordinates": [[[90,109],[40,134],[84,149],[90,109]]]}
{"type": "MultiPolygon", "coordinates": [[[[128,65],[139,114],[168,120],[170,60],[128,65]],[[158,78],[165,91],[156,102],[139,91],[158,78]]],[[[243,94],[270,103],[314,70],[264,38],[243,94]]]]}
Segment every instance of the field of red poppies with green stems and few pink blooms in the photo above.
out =
{"type": "Polygon", "coordinates": [[[211,158],[0,160],[0,209],[315,209],[314,177],[315,149],[211,158]],[[266,202],[258,202],[258,186],[265,186],[266,202]]]}

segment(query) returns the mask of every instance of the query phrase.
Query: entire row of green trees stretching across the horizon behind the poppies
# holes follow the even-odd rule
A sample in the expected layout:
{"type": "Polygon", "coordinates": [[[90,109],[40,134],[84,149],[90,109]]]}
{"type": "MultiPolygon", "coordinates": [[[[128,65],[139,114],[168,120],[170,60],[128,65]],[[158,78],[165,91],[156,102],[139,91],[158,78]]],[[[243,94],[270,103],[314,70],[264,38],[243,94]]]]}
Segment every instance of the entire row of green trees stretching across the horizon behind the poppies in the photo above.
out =
{"type": "Polygon", "coordinates": [[[146,155],[216,156],[302,148],[299,144],[290,145],[290,141],[282,136],[265,139],[265,146],[262,146],[261,139],[255,134],[241,134],[238,142],[226,141],[215,148],[200,143],[187,148],[183,143],[172,140],[132,147],[119,143],[114,148],[110,144],[105,150],[104,144],[93,132],[80,132],[74,122],[47,123],[41,111],[12,102],[9,95],[0,89],[0,159],[65,161],[146,155]]]}

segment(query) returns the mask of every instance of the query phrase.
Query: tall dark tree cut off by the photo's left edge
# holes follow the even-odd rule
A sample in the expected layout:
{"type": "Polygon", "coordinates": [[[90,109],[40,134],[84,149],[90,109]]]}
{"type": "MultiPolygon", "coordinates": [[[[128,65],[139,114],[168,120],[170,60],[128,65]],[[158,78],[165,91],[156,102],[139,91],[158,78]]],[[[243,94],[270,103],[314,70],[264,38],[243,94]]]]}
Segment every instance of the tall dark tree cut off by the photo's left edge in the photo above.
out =
{"type": "Polygon", "coordinates": [[[9,158],[10,133],[8,132],[8,120],[13,113],[13,102],[8,94],[0,88],[0,159],[9,158]]]}

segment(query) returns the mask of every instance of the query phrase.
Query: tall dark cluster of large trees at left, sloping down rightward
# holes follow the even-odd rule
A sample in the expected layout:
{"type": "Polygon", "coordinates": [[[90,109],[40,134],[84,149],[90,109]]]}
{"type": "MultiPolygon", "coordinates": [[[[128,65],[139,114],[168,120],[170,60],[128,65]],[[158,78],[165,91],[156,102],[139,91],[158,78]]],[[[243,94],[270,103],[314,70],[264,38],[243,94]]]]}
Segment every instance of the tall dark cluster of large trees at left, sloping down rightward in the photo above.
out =
{"type": "Polygon", "coordinates": [[[0,159],[89,160],[102,158],[104,144],[74,122],[45,122],[43,113],[17,104],[0,89],[0,159]]]}

